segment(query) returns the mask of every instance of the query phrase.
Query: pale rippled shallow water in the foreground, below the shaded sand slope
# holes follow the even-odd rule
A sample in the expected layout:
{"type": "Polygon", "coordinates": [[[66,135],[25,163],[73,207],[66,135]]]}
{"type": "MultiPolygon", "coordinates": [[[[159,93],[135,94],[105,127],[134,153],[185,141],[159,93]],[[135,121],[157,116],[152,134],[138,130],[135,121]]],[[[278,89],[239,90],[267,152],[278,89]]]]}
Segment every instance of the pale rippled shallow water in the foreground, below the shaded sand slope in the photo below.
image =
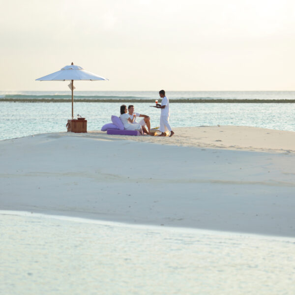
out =
{"type": "Polygon", "coordinates": [[[291,237],[15,211],[0,236],[0,294],[295,294],[291,237]]]}

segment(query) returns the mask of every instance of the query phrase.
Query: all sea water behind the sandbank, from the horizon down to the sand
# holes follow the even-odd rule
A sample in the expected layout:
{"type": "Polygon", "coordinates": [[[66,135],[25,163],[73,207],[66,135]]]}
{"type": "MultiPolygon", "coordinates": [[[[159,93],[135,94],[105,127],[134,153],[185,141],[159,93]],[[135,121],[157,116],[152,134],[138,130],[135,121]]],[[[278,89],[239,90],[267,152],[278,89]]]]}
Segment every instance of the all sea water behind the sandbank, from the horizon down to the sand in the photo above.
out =
{"type": "MultiPolygon", "coordinates": [[[[160,110],[149,107],[158,98],[157,91],[77,91],[74,95],[74,116],[85,117],[88,130],[100,130],[102,125],[111,122],[111,115],[119,116],[121,104],[128,105],[132,100],[137,101],[134,103],[136,112],[150,116],[152,127],[159,125],[160,110]],[[99,102],[79,101],[86,97],[99,102]],[[140,102],[147,99],[148,102],[140,102]]],[[[219,124],[295,131],[295,103],[242,103],[245,99],[292,100],[295,91],[172,91],[167,92],[167,96],[171,101],[172,127],[219,124]],[[192,99],[236,99],[241,103],[187,103],[192,99]]],[[[1,97],[13,101],[0,101],[0,140],[66,131],[71,103],[40,102],[40,99],[70,99],[70,91],[2,91],[1,97]],[[39,102],[22,102],[24,99],[39,102]]]]}

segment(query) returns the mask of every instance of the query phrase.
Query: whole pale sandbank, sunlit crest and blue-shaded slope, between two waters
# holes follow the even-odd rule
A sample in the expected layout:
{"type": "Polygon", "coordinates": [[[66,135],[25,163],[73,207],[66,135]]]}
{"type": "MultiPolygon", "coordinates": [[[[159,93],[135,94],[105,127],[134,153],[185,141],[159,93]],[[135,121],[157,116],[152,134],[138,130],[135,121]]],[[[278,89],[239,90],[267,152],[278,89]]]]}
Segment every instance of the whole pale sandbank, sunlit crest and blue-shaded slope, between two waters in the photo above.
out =
{"type": "Polygon", "coordinates": [[[295,236],[294,132],[175,131],[0,141],[0,210],[295,236]]]}

